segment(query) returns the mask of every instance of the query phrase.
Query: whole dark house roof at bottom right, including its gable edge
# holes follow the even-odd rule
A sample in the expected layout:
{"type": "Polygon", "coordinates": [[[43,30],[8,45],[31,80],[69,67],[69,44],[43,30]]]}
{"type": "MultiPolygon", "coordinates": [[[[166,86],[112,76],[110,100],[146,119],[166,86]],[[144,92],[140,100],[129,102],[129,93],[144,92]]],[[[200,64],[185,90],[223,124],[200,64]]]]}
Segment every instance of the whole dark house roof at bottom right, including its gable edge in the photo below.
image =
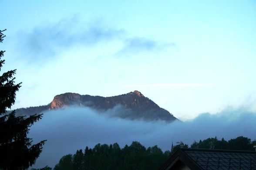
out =
{"type": "Polygon", "coordinates": [[[159,170],[181,161],[191,170],[256,170],[256,152],[241,150],[178,149],[159,170]]]}

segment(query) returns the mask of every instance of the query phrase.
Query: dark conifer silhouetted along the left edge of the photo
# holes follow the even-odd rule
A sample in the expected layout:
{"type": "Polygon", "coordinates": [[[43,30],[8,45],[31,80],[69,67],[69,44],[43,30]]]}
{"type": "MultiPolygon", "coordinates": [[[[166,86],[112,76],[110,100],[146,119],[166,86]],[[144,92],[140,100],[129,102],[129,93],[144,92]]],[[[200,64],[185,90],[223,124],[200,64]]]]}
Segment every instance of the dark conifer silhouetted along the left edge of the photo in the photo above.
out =
{"type": "MultiPolygon", "coordinates": [[[[6,29],[5,29],[6,30],[6,29]]],[[[0,30],[0,42],[5,35],[0,30]]],[[[0,71],[5,62],[0,51],[0,71]]],[[[35,163],[42,151],[45,141],[32,145],[32,139],[27,137],[29,127],[42,118],[42,114],[34,114],[29,118],[15,116],[15,111],[7,112],[7,108],[15,102],[16,92],[21,83],[15,84],[15,70],[4,72],[0,76],[0,169],[26,170],[35,163]]]]}

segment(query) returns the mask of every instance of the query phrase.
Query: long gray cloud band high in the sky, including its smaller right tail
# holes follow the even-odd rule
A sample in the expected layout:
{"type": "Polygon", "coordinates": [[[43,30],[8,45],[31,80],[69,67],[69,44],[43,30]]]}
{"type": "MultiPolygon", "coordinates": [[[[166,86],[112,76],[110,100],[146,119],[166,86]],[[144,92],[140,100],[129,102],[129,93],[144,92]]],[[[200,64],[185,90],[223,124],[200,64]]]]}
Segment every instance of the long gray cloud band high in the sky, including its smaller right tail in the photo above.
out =
{"type": "MultiPolygon", "coordinates": [[[[146,37],[129,36],[124,29],[102,26],[102,21],[83,23],[77,17],[61,20],[54,24],[40,25],[29,32],[18,33],[18,46],[25,50],[30,61],[52,58],[58,50],[84,44],[93,46],[101,41],[120,40],[122,49],[117,55],[138,52],[156,52],[175,46],[175,43],[162,42],[146,37]]],[[[19,51],[20,51],[19,50],[19,51]]]]}

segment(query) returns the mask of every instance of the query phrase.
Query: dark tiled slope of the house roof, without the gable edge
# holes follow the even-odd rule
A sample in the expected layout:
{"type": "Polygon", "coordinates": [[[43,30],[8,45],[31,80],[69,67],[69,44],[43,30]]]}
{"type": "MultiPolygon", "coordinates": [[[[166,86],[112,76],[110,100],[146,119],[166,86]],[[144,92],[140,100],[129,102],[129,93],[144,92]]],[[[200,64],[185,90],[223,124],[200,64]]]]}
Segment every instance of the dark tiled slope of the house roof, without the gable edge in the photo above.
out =
{"type": "Polygon", "coordinates": [[[202,170],[256,170],[256,152],[182,149],[202,170]]]}

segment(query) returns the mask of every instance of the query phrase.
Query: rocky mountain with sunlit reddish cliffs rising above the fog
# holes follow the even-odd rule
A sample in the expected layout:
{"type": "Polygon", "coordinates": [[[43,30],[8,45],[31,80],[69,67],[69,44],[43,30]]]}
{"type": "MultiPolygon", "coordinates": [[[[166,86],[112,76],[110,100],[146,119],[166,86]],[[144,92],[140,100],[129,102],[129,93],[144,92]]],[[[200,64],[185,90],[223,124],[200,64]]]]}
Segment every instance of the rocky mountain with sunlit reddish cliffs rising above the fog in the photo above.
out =
{"type": "Polygon", "coordinates": [[[167,110],[160,108],[155,102],[134,91],[124,95],[101,97],[79,95],[77,93],[64,93],[56,95],[49,105],[20,108],[17,115],[38,114],[46,110],[67,108],[70,106],[89,107],[99,113],[109,114],[112,117],[125,119],[142,119],[144,121],[162,120],[172,122],[178,120],[167,110]]]}

